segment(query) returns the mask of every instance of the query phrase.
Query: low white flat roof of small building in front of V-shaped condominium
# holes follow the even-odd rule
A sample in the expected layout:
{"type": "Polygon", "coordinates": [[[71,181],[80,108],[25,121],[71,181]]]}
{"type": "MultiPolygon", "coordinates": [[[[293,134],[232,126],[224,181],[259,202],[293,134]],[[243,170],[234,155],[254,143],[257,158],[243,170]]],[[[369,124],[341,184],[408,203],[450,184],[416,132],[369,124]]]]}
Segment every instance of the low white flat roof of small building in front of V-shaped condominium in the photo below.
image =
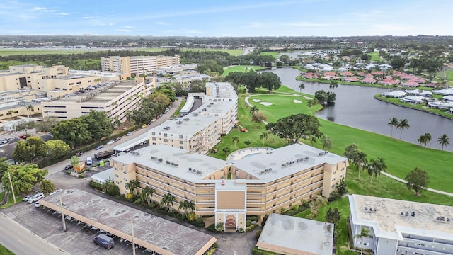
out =
{"type": "Polygon", "coordinates": [[[285,254],[331,255],[333,224],[299,217],[271,214],[256,246],[285,254]],[[305,253],[304,253],[305,254],[305,253]]]}

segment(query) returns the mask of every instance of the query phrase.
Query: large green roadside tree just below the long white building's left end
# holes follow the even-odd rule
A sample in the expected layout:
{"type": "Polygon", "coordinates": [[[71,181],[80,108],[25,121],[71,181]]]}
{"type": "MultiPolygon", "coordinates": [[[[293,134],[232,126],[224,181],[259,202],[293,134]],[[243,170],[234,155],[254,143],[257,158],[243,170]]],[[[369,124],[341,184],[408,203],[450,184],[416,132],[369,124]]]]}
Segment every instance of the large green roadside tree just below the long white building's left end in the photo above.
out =
{"type": "Polygon", "coordinates": [[[62,120],[55,125],[52,135],[54,135],[55,140],[62,140],[74,149],[74,146],[84,145],[91,140],[88,127],[89,125],[81,118],[62,120]]]}

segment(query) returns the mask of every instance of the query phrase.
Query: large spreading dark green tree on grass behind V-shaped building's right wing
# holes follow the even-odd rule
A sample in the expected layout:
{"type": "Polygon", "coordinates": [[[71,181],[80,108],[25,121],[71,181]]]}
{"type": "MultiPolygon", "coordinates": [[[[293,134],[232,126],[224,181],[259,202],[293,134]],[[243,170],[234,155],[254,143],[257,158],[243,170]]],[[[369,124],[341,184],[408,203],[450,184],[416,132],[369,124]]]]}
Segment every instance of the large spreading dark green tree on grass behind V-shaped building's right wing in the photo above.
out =
{"type": "Polygon", "coordinates": [[[280,138],[285,138],[288,142],[299,142],[302,137],[321,137],[319,131],[319,120],[313,115],[299,113],[289,115],[277,120],[275,123],[268,123],[266,130],[280,138]]]}

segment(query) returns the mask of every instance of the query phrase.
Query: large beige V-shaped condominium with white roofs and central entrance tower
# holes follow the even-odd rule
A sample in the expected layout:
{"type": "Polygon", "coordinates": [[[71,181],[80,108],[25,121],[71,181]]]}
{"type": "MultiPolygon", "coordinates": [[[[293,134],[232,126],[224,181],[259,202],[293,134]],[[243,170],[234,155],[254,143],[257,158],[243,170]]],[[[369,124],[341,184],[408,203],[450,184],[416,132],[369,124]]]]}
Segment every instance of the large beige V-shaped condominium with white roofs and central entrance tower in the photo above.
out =
{"type": "Polygon", "coordinates": [[[228,162],[150,145],[113,157],[111,164],[120,193],[129,192],[126,183],[137,180],[139,192],[154,188],[152,200],[170,193],[176,198],[173,209],[180,212],[183,200],[193,201],[196,215],[215,215],[226,231],[246,229],[246,215],[262,219],[315,196],[328,197],[349,166],[345,157],[303,144],[228,162]]]}

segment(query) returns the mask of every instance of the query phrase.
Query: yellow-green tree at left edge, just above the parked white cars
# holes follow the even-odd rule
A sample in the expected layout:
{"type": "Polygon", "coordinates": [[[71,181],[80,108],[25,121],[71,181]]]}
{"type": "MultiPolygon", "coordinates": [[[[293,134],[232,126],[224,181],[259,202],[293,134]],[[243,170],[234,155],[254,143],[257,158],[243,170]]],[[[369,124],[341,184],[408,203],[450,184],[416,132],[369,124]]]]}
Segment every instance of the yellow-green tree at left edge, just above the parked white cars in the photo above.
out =
{"type": "MultiPolygon", "coordinates": [[[[11,175],[14,192],[18,194],[31,191],[36,183],[45,179],[47,170],[39,169],[37,164],[11,165],[1,179],[2,183],[9,183],[8,174],[11,175]]],[[[10,186],[4,188],[11,191],[10,186]]]]}

